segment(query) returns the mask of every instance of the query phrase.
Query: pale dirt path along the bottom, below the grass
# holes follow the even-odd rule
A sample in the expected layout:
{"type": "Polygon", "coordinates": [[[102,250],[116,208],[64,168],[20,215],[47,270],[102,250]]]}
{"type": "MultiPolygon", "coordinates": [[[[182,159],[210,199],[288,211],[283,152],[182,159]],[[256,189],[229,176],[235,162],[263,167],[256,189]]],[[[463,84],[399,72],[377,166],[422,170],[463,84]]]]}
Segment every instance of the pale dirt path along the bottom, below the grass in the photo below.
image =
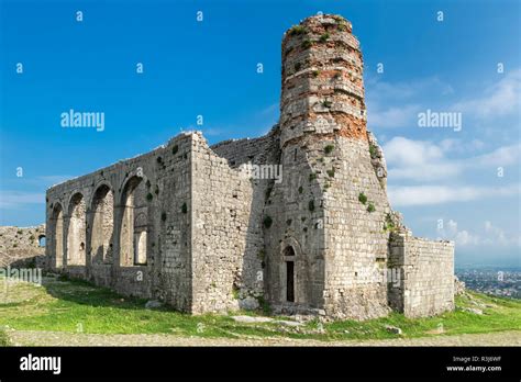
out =
{"type": "Polygon", "coordinates": [[[160,334],[98,335],[12,329],[8,334],[14,346],[521,346],[521,332],[330,342],[279,337],[230,339],[160,334]]]}

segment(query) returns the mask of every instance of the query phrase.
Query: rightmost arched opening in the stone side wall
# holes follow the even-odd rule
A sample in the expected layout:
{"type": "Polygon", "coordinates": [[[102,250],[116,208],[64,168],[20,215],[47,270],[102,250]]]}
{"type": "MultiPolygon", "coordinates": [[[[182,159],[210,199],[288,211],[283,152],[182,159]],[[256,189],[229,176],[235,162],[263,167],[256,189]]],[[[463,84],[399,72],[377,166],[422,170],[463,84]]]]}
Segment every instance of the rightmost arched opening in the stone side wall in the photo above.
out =
{"type": "Polygon", "coordinates": [[[143,178],[131,178],[123,190],[120,234],[121,266],[145,265],[147,254],[148,209],[143,178]]]}

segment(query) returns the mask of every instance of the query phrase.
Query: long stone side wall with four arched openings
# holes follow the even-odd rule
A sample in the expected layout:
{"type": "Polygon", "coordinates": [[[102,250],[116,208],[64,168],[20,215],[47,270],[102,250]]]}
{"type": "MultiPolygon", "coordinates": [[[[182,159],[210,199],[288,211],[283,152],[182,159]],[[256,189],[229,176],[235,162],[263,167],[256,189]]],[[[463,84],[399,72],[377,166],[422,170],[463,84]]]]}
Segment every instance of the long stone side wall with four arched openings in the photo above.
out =
{"type": "Polygon", "coordinates": [[[47,190],[49,268],[190,310],[191,139],[47,190]]]}

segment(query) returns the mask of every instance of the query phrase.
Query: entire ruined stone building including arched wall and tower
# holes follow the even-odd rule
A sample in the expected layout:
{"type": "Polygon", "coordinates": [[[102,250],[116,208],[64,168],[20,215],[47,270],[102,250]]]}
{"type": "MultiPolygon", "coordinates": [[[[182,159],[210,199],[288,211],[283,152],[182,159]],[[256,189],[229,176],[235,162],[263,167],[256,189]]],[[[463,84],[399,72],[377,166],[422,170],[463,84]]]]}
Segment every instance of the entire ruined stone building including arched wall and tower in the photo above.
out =
{"type": "Polygon", "coordinates": [[[280,120],[266,136],[210,147],[186,133],[51,188],[49,267],[193,314],[451,310],[453,244],[411,237],[389,205],[351,32],[320,15],[285,34],[280,120]]]}

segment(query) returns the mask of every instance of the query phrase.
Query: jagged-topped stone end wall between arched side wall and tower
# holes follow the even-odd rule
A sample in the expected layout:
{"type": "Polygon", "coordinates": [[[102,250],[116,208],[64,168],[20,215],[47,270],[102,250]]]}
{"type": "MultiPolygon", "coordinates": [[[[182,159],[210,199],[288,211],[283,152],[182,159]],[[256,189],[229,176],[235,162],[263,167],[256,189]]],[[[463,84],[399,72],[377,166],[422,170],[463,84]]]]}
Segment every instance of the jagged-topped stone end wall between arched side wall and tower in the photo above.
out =
{"type": "Polygon", "coordinates": [[[193,156],[193,312],[254,308],[264,296],[265,193],[269,179],[254,179],[246,165],[278,164],[277,128],[257,139],[208,147],[193,156]]]}

